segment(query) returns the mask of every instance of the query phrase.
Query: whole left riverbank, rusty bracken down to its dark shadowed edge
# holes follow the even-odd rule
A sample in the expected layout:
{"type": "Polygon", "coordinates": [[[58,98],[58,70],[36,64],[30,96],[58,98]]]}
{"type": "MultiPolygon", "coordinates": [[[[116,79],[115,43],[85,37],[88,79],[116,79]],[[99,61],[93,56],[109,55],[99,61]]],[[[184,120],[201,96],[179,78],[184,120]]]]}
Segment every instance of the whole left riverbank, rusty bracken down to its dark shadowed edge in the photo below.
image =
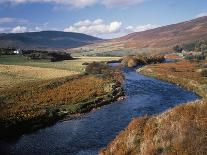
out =
{"type": "Polygon", "coordinates": [[[104,64],[100,66],[102,70],[94,67],[99,74],[86,71],[82,75],[2,90],[0,137],[34,131],[66,117],[89,112],[123,96],[121,71],[104,64]]]}

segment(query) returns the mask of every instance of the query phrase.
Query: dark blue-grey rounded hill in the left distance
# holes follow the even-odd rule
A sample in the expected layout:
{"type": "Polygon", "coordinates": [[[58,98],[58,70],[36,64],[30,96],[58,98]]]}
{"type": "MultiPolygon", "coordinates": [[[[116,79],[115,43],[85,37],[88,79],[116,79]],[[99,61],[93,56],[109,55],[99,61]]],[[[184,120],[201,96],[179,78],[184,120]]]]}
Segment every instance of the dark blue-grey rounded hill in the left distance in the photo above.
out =
{"type": "Polygon", "coordinates": [[[63,49],[88,45],[101,39],[81,33],[42,31],[0,34],[0,47],[63,49]]]}

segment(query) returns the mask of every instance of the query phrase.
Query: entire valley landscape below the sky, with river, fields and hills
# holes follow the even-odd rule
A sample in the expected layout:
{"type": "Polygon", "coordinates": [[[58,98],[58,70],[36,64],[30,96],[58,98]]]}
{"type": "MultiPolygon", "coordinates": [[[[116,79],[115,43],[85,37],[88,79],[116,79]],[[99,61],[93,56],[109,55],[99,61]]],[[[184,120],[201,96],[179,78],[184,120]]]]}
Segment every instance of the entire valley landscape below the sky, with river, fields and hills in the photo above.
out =
{"type": "Polygon", "coordinates": [[[0,154],[206,154],[206,36],[206,16],[115,39],[0,34],[0,154]]]}

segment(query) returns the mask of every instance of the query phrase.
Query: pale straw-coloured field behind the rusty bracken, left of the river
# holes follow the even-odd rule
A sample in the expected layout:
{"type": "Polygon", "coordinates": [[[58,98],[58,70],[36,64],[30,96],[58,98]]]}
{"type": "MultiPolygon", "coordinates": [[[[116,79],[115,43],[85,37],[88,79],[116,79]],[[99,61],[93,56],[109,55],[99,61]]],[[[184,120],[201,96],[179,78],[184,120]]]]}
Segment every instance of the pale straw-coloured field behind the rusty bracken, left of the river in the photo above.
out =
{"type": "Polygon", "coordinates": [[[0,65],[0,91],[20,83],[76,75],[78,72],[17,65],[0,65]]]}

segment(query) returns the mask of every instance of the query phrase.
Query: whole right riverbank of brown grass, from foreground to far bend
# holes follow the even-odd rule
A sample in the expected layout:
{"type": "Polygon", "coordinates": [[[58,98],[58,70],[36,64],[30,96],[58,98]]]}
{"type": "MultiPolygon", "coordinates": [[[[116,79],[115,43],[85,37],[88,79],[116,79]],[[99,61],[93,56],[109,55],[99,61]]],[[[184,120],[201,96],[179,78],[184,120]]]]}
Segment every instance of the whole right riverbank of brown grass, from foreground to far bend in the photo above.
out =
{"type": "Polygon", "coordinates": [[[135,118],[100,154],[206,154],[207,79],[199,72],[203,65],[204,62],[181,61],[139,69],[146,76],[194,91],[202,99],[157,116],[135,118]]]}

